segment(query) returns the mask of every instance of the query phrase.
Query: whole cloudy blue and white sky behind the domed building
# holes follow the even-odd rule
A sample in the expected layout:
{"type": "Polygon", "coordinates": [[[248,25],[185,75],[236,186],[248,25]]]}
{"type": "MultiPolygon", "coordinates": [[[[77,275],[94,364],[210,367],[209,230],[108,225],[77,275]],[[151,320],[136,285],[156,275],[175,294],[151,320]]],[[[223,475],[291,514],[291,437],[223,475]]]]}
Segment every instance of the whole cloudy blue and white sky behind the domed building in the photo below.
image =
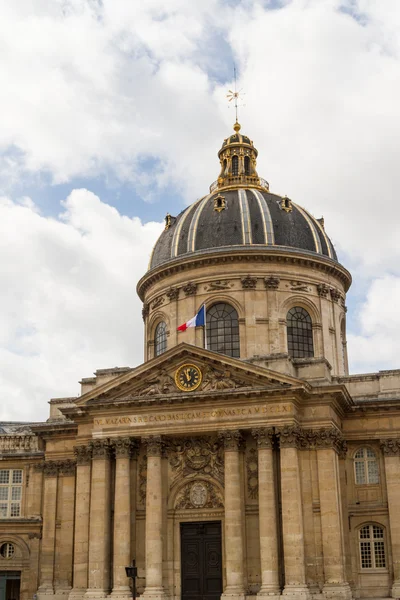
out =
{"type": "Polygon", "coordinates": [[[234,122],[324,216],[351,373],[400,368],[398,0],[0,0],[0,420],[143,361],[136,282],[234,122]]]}

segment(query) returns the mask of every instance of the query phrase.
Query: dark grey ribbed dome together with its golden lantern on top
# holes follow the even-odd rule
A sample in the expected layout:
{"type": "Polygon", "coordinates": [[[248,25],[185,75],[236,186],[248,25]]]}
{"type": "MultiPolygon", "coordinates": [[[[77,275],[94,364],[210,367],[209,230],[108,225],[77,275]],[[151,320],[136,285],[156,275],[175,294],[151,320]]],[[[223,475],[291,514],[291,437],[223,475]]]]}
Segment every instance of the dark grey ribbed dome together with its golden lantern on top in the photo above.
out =
{"type": "Polygon", "coordinates": [[[210,194],[177,217],[167,215],[157,240],[150,269],[176,260],[220,249],[297,249],[337,261],[323,220],[312,217],[287,197],[272,194],[256,171],[257,149],[239,133],[224,140],[218,157],[221,171],[210,194]]]}

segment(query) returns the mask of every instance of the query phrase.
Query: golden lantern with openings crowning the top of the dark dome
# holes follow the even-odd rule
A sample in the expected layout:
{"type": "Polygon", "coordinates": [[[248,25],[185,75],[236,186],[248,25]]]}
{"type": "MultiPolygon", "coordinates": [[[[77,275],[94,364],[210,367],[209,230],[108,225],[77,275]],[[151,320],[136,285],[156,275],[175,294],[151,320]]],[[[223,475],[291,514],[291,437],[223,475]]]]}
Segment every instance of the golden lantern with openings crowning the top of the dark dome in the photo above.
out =
{"type": "Polygon", "coordinates": [[[240,133],[241,126],[236,121],[235,133],[224,140],[218,158],[221,172],[217,181],[210,186],[210,192],[229,187],[252,186],[269,190],[269,184],[258,176],[256,171],[257,149],[246,135],[240,133]]]}

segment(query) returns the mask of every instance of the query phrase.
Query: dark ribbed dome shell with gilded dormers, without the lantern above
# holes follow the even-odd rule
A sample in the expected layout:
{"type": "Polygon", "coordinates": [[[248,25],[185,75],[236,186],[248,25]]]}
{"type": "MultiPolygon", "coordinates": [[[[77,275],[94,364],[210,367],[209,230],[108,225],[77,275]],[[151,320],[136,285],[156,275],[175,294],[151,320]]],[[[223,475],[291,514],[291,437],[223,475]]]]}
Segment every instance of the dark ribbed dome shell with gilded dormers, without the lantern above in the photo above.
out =
{"type": "Polygon", "coordinates": [[[232,247],[295,248],[337,260],[322,220],[289,198],[243,187],[215,191],[177,217],[167,215],[150,268],[191,253],[232,247]]]}

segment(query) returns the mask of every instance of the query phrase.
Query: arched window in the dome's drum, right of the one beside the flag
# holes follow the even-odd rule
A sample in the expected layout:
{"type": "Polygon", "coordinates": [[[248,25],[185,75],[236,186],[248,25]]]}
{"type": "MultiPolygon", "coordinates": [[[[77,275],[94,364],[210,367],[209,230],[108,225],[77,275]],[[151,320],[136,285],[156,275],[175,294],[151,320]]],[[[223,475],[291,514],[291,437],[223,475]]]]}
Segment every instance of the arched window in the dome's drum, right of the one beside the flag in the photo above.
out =
{"type": "Polygon", "coordinates": [[[301,306],[291,308],[286,316],[288,352],[292,358],[314,356],[312,321],[301,306]]]}

